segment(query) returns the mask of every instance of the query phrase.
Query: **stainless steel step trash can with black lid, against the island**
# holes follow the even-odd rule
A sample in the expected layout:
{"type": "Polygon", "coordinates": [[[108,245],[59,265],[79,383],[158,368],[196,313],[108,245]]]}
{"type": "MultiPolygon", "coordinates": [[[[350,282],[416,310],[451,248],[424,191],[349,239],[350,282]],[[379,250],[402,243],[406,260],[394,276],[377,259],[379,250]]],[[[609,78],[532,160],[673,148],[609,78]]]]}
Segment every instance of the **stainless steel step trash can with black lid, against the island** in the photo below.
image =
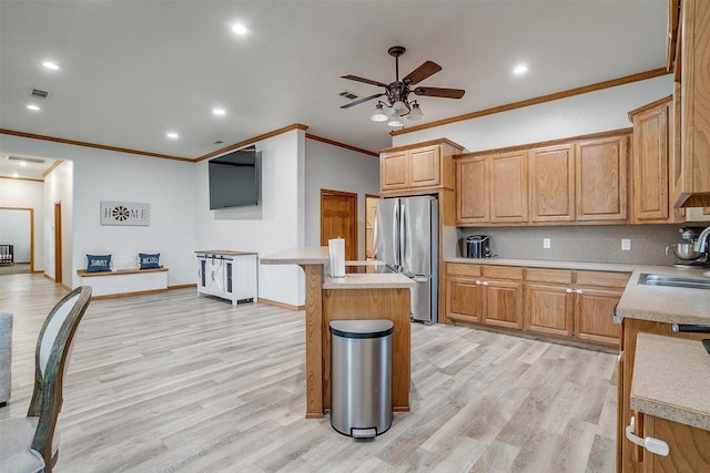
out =
{"type": "Polygon", "coordinates": [[[331,425],[355,439],[392,426],[392,320],[333,320],[331,425]]]}

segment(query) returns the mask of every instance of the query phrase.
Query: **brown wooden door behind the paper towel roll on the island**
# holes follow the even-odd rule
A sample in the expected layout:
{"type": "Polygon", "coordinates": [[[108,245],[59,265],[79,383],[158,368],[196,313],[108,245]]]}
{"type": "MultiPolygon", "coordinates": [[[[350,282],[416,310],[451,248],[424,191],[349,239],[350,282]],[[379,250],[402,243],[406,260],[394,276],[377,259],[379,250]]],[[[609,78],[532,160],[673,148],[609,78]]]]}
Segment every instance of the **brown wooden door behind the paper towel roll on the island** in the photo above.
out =
{"type": "Polygon", "coordinates": [[[345,238],[345,259],[357,258],[357,194],[321,189],[321,245],[345,238]]]}

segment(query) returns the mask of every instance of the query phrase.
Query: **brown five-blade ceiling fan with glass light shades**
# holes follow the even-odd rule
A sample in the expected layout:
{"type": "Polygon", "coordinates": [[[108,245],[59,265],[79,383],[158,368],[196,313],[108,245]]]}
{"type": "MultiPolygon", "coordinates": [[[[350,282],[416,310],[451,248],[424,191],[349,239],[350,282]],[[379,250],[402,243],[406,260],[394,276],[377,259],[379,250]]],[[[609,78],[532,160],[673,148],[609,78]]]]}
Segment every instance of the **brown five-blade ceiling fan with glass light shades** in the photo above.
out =
{"type": "Polygon", "coordinates": [[[422,109],[416,100],[409,102],[408,95],[414,93],[415,95],[424,95],[424,96],[440,96],[446,99],[460,99],[466,93],[465,90],[462,89],[442,89],[442,88],[413,88],[414,84],[417,84],[425,80],[426,78],[436,74],[442,70],[442,66],[438,65],[434,61],[426,61],[424,64],[419,65],[414,71],[409,72],[402,81],[399,80],[399,56],[404,54],[406,49],[404,47],[392,47],[387,50],[387,53],[395,58],[395,72],[396,80],[388,84],[383,82],[373,81],[369,79],[359,78],[357,75],[342,75],[343,79],[348,79],[351,81],[364,82],[366,84],[378,85],[384,88],[385,91],[375,95],[371,95],[364,99],[356,100],[346,105],[341,106],[341,109],[349,109],[351,106],[358,105],[361,103],[367,102],[373,99],[377,99],[381,96],[386,96],[386,102],[377,101],[377,105],[375,105],[375,111],[373,112],[371,120],[374,122],[385,122],[388,121],[388,125],[393,127],[404,126],[402,121],[403,117],[406,117],[409,121],[419,121],[424,119],[424,113],[422,113],[422,109]],[[392,109],[392,113],[388,115],[385,113],[383,106],[387,106],[392,109]]]}

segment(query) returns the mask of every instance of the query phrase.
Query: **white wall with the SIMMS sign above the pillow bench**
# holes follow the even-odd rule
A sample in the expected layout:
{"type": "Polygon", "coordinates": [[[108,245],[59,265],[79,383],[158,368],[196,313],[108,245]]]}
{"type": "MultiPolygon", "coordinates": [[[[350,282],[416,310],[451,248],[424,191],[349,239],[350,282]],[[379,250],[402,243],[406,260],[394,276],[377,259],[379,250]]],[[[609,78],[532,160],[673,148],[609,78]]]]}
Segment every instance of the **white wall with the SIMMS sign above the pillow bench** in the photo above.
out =
{"type": "Polygon", "coordinates": [[[53,206],[62,203],[63,282],[77,286],[85,254],[161,253],[170,286],[195,282],[194,169],[189,162],[159,160],[20,136],[2,136],[8,153],[65,160],[44,182],[45,274],[53,275],[53,206]],[[101,200],[150,204],[148,227],[101,226],[101,200]]]}

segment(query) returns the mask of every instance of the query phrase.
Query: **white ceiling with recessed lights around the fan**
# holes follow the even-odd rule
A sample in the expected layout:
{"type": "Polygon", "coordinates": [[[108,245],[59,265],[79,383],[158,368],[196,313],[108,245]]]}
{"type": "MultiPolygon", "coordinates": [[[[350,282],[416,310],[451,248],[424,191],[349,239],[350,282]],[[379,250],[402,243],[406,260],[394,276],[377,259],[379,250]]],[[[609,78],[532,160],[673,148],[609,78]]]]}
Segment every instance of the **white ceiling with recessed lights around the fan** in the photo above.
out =
{"type": "Polygon", "coordinates": [[[394,81],[392,45],[407,49],[400,78],[432,60],[443,70],[419,85],[466,90],[462,100],[419,97],[427,123],[662,68],[667,9],[667,0],[0,0],[0,127],[196,158],[302,123],[377,151],[392,142],[386,124],[369,121],[375,101],[342,110],[338,93],[381,89],[341,75],[394,81]],[[235,22],[250,33],[233,34],[235,22]],[[526,76],[511,74],[518,62],[526,76]],[[31,88],[51,95],[32,99],[31,88]]]}

